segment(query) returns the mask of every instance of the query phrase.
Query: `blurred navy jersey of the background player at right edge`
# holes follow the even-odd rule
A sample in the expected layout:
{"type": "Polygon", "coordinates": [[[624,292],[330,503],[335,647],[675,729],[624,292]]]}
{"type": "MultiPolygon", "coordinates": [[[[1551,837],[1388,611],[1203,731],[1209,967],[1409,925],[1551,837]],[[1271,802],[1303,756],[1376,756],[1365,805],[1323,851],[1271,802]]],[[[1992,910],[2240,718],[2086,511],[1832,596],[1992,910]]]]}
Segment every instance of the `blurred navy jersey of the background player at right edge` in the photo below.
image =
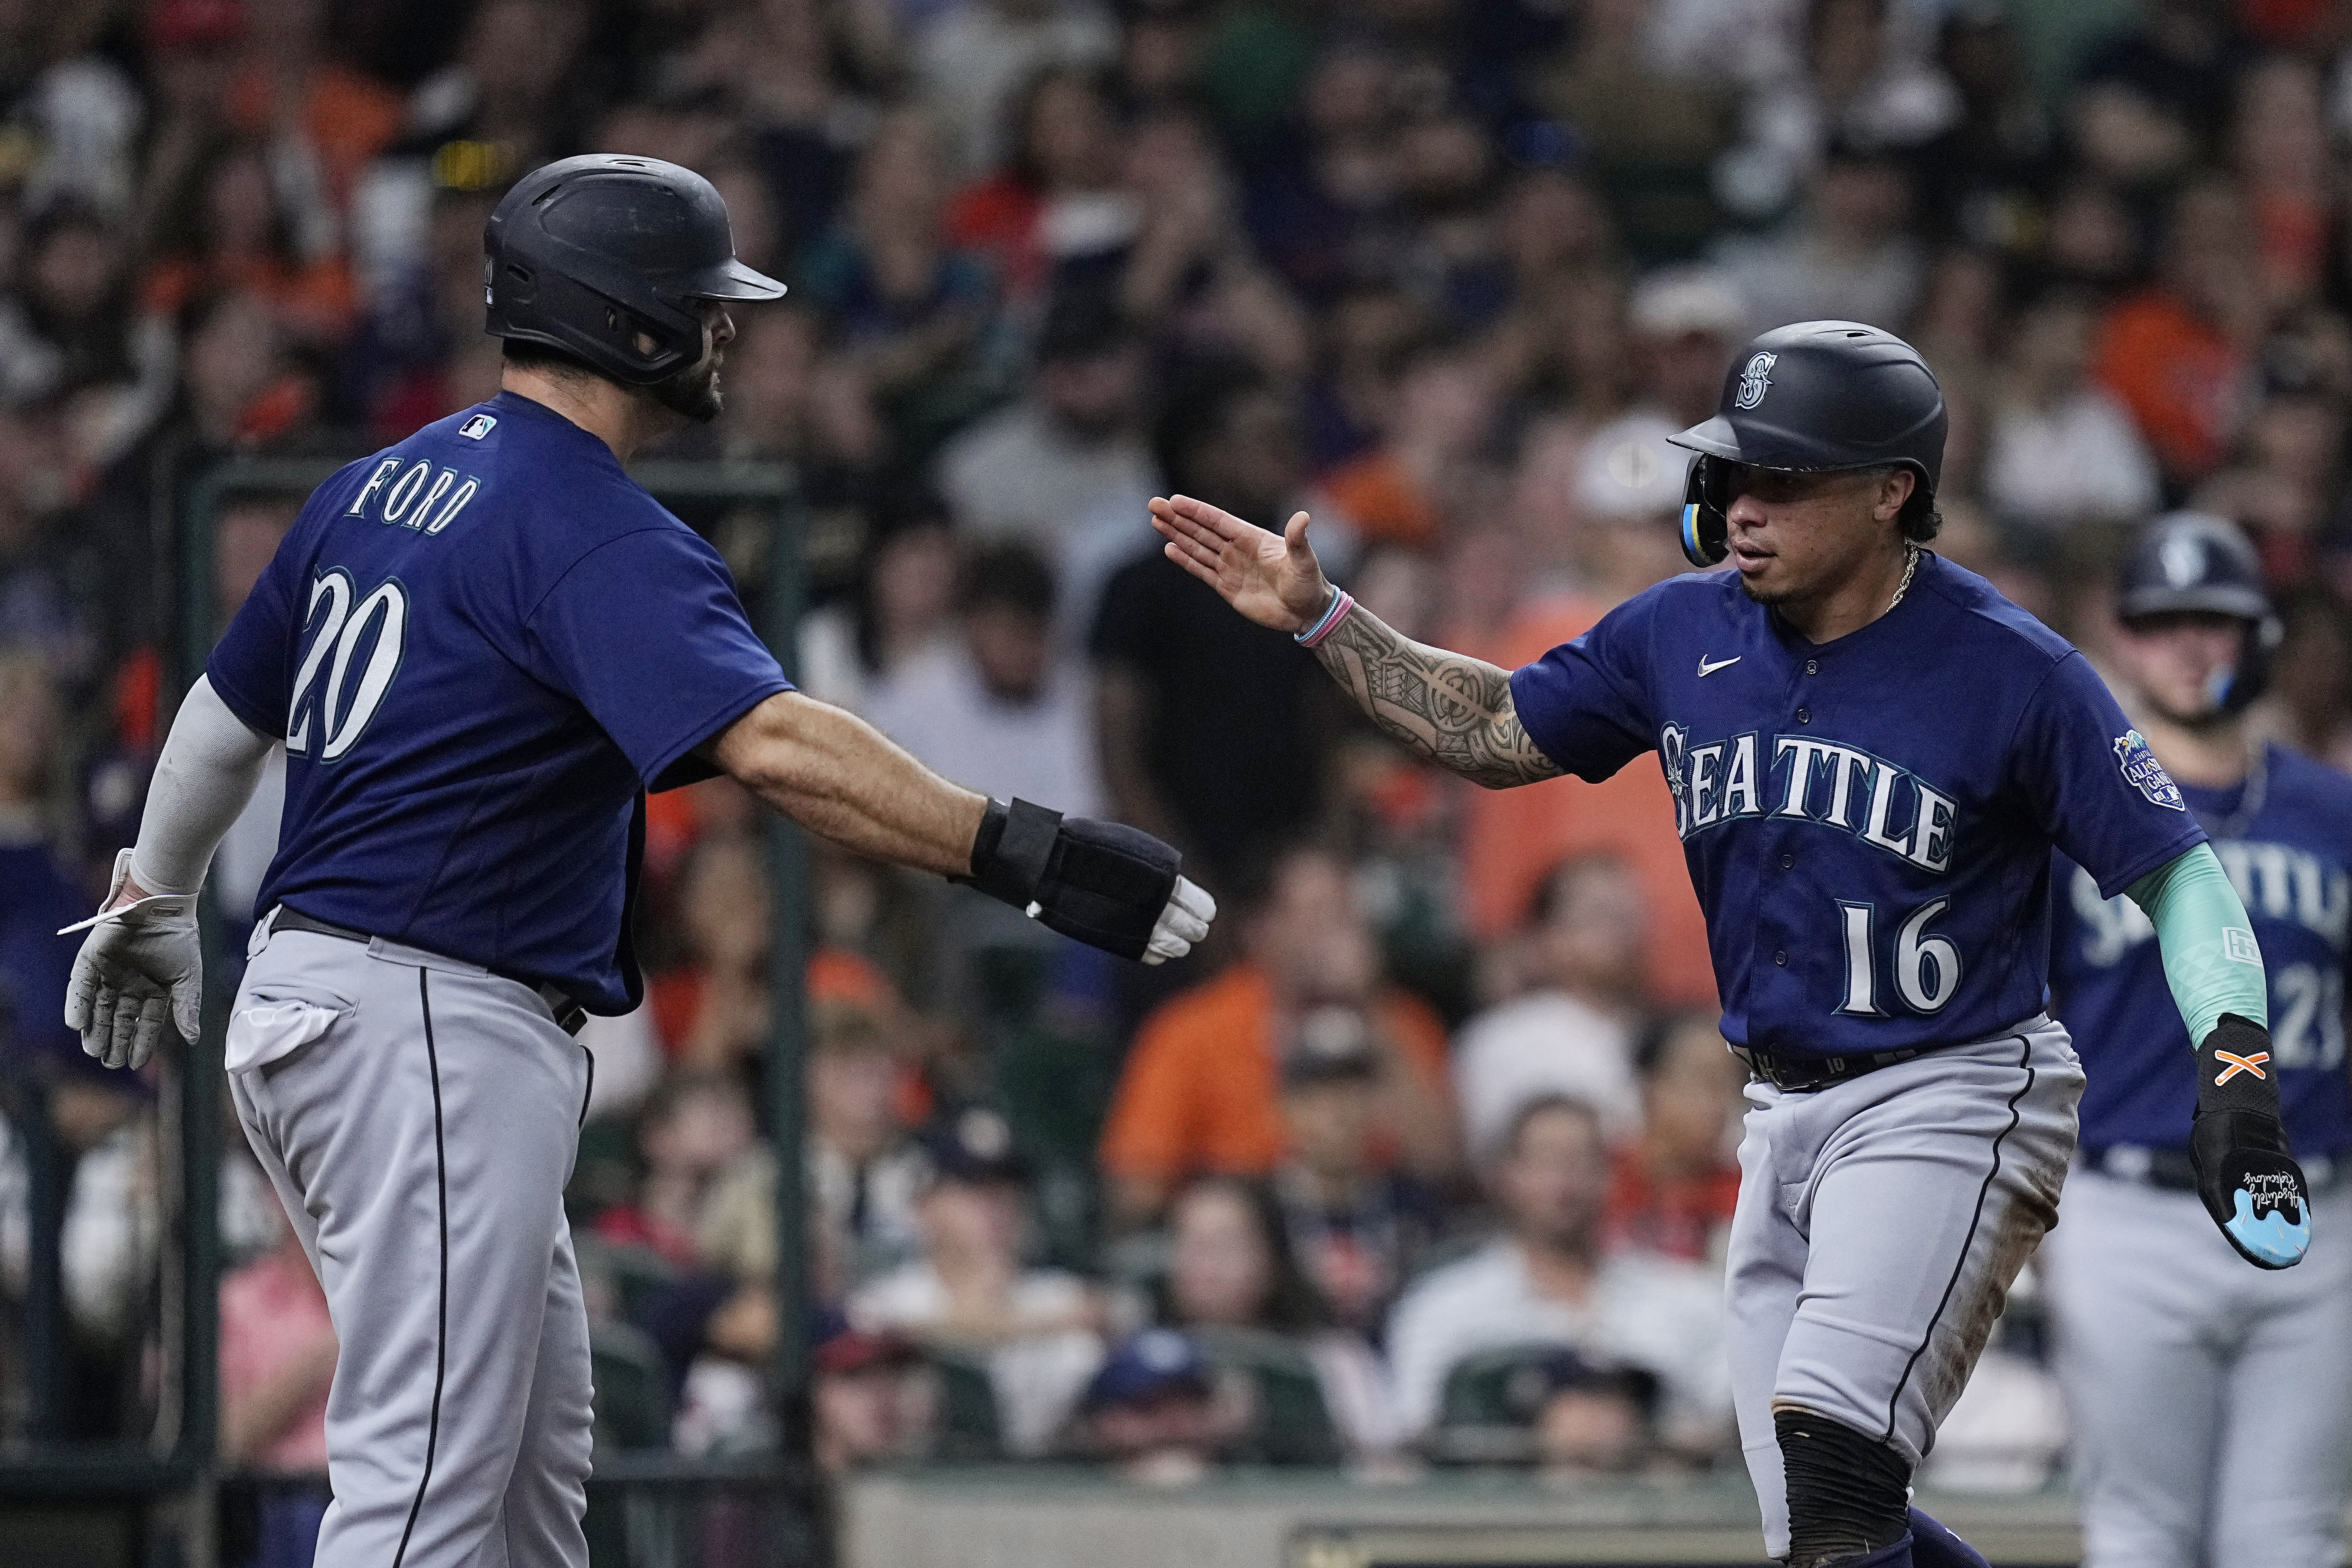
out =
{"type": "MultiPolygon", "coordinates": [[[[2298,1154],[2352,1147],[2345,1077],[2345,919],[2352,914],[2352,778],[2281,745],[2260,780],[2180,788],[2253,917],[2270,980],[2270,1053],[2298,1154]],[[2251,809],[2249,809],[2251,806],[2251,809]]],[[[2197,1058],[2164,987],[2157,933],[2129,898],[2058,856],[2051,990],[2091,1081],[2082,1143],[2178,1147],[2197,1112],[2197,1058]]]]}

